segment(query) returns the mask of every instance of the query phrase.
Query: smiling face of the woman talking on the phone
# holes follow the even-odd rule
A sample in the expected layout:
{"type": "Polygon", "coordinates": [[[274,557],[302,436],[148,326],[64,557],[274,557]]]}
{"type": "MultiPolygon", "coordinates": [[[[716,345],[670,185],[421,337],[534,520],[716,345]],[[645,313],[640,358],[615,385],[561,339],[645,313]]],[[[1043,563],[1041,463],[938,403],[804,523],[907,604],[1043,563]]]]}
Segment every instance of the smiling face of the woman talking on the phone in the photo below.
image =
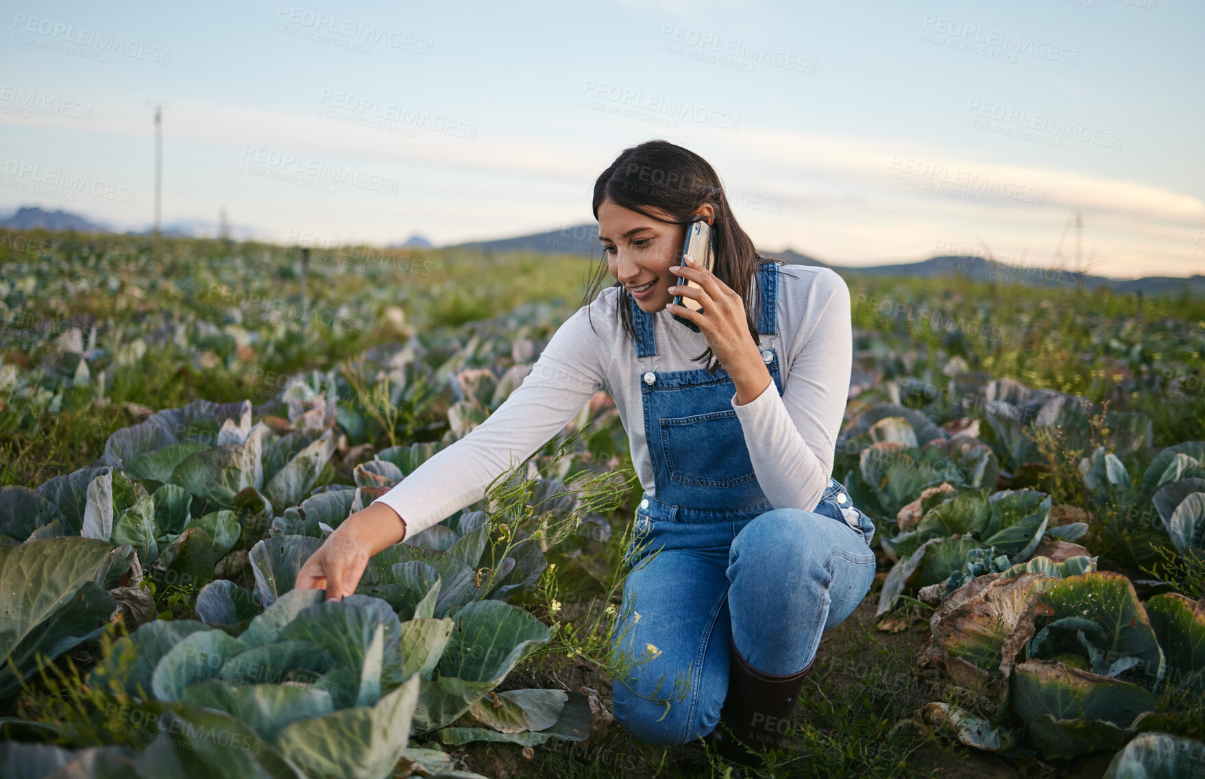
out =
{"type": "MultiPolygon", "coordinates": [[[[658,208],[648,211],[669,218],[658,208]]],[[[710,222],[715,209],[704,203],[694,213],[710,222]]],[[[682,225],[652,219],[611,200],[599,205],[599,241],[607,254],[607,271],[628,288],[641,311],[654,313],[674,300],[669,289],[682,279],[669,268],[680,265],[683,232],[682,225]],[[643,294],[633,291],[648,283],[652,287],[643,294]]]]}

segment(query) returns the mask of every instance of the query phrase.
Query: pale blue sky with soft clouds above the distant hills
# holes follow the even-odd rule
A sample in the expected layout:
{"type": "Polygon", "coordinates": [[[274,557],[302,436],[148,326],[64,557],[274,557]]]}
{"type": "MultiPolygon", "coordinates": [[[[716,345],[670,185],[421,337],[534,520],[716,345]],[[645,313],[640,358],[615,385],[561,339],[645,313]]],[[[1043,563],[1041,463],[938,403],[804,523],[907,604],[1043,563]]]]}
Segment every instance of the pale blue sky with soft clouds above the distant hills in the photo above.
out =
{"type": "Polygon", "coordinates": [[[1205,2],[0,2],[0,214],[289,244],[596,222],[664,138],[763,250],[1205,272],[1205,2]],[[1076,252],[1075,214],[1081,249],[1076,252]]]}

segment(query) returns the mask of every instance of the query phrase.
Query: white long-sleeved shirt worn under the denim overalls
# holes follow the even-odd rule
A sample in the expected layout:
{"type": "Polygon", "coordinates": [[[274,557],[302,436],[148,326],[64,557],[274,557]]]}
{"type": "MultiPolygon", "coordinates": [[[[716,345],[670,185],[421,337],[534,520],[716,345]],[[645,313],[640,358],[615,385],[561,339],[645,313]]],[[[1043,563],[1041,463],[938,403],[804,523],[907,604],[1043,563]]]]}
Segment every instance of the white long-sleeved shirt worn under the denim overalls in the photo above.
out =
{"type": "MultiPolygon", "coordinates": [[[[490,482],[560,432],[600,389],[615,400],[628,431],[633,466],[643,490],[656,497],[640,397],[643,368],[635,342],[616,315],[618,293],[619,288],[609,287],[578,308],[489,418],[374,501],[402,518],[404,539],[482,500],[490,482]]],[[[850,391],[850,290],[833,270],[781,265],[777,296],[781,337],[759,336],[759,347],[778,354],[782,394],[770,382],[743,406],[736,403],[734,391],[731,405],[766,500],[775,508],[812,511],[833,472],[850,391]]],[[[653,365],[657,371],[705,367],[692,359],[707,348],[704,334],[681,325],[668,311],[653,317],[662,355],[653,365]]]]}

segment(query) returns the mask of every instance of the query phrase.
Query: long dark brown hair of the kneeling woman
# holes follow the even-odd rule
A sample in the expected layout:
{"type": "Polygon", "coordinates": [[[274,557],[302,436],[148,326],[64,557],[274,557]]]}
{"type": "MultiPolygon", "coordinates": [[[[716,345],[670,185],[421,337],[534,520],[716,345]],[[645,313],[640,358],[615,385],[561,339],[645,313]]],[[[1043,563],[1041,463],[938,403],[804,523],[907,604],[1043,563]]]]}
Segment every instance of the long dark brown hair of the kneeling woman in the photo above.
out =
{"type": "MultiPolygon", "coordinates": [[[[766,259],[753,248],[753,241],[736,223],[733,209],[724,196],[724,187],[716,171],[694,152],[669,141],[652,140],[639,146],[625,148],[615,161],[602,171],[594,182],[594,218],[599,217],[599,206],[610,200],[617,206],[636,211],[651,219],[664,222],[647,211],[649,206],[670,214],[670,224],[686,225],[696,219],[695,208],[710,202],[716,214],[711,223],[712,250],[715,267],[712,272],[741,296],[745,301],[745,319],[750,335],[757,341],[757,312],[753,307],[752,291],[760,287],[754,279],[757,268],[765,262],[778,260],[766,259]]],[[[599,284],[607,275],[607,262],[599,265],[599,273],[590,281],[582,297],[582,306],[598,295],[599,284]]],[[[616,281],[612,287],[619,288],[617,315],[628,337],[636,338],[636,327],[631,321],[631,296],[628,289],[616,281]]],[[[757,300],[762,300],[758,289],[757,300]]],[[[760,302],[758,302],[760,305],[760,302]]],[[[589,309],[587,309],[589,317],[589,309]]],[[[590,321],[590,329],[594,323],[590,321]]],[[[709,373],[715,373],[719,361],[709,346],[694,361],[706,365],[709,373]]]]}

